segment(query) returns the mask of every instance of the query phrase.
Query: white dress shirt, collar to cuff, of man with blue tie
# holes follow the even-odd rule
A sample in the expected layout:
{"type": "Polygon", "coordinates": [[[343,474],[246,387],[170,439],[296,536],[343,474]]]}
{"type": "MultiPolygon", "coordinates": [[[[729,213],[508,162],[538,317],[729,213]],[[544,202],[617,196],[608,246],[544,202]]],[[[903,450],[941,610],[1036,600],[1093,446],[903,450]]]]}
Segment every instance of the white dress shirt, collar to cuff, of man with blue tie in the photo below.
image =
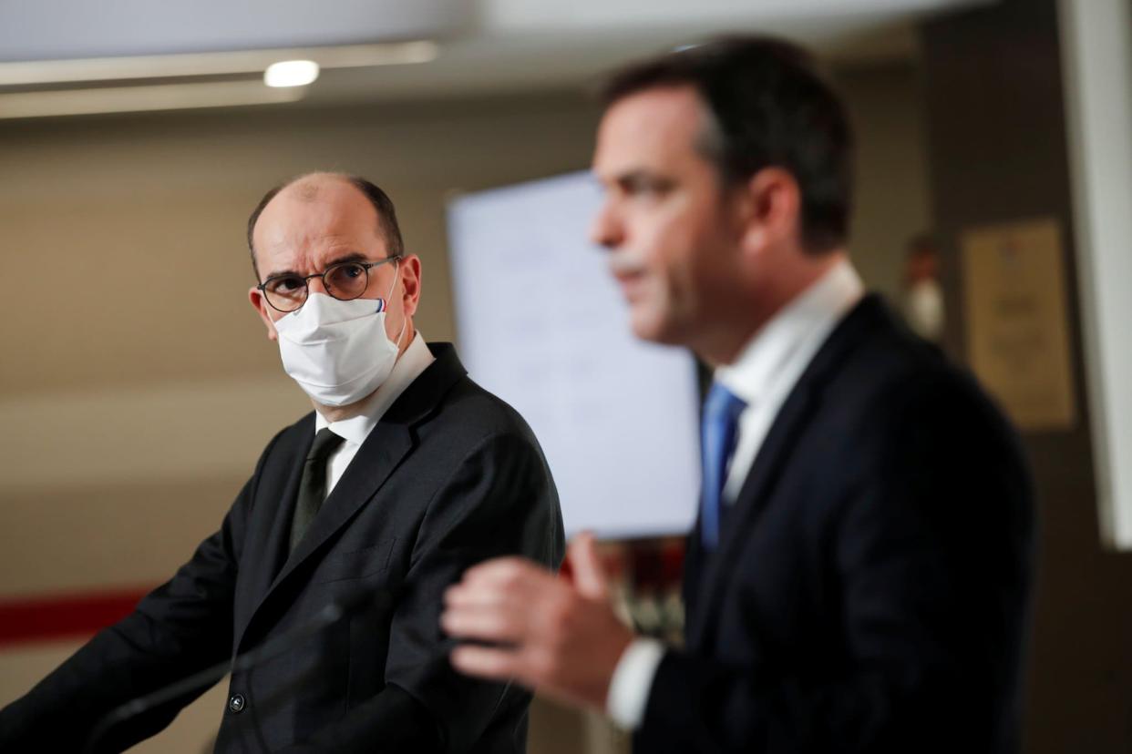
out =
{"type": "MultiPolygon", "coordinates": [[[[839,262],[760,328],[734,363],[715,370],[715,380],[747,404],[739,414],[738,439],[727,469],[724,505],[738,497],[771,424],[801,373],[864,292],[852,265],[839,262]]],[[[618,660],[606,713],[619,727],[632,730],[641,725],[664,651],[654,639],[636,639],[618,660]]]]}

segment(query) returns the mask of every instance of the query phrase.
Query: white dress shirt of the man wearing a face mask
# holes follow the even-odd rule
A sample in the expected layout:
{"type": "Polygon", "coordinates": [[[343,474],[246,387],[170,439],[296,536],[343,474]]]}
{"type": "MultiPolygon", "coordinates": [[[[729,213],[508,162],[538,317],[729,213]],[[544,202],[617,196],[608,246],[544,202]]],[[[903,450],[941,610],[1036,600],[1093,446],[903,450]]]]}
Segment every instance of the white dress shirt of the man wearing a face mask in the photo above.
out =
{"type": "Polygon", "coordinates": [[[389,409],[389,406],[393,405],[393,401],[400,398],[405,388],[412,384],[413,380],[419,378],[421,372],[428,369],[428,365],[434,361],[436,359],[432,357],[432,352],[428,349],[424,338],[421,337],[420,330],[418,330],[413,337],[413,341],[405,348],[405,353],[397,357],[397,363],[393,365],[389,376],[367,399],[361,414],[342,419],[341,422],[327,422],[321,414],[315,411],[316,434],[319,430],[329,427],[331,432],[345,441],[326,459],[327,495],[331,494],[334,485],[345,474],[350,461],[358,454],[361,443],[366,442],[366,437],[374,431],[377,423],[381,421],[381,417],[389,409]]]}

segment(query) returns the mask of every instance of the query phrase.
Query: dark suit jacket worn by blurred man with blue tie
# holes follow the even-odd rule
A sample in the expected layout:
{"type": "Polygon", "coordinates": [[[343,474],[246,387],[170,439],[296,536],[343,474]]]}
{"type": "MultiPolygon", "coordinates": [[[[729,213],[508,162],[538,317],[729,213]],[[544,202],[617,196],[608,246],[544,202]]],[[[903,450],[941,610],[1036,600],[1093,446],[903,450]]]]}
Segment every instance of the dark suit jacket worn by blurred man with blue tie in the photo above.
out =
{"type": "Polygon", "coordinates": [[[724,514],[638,752],[1017,747],[1029,475],[976,384],[876,297],[839,323],[724,514]]]}

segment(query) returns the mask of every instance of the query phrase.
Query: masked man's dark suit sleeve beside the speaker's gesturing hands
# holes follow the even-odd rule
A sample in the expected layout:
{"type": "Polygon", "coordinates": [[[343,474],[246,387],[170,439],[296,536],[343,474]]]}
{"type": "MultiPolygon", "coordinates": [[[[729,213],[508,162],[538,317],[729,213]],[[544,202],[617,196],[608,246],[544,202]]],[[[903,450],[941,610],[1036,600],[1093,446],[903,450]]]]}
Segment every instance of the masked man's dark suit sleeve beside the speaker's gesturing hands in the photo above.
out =
{"type": "Polygon", "coordinates": [[[288,752],[370,751],[375,740],[396,742],[389,751],[472,748],[498,712],[529,695],[452,668],[444,591],[480,561],[522,555],[557,569],[563,553],[558,496],[534,440],[518,432],[481,440],[428,504],[393,617],[386,688],[288,752]]]}

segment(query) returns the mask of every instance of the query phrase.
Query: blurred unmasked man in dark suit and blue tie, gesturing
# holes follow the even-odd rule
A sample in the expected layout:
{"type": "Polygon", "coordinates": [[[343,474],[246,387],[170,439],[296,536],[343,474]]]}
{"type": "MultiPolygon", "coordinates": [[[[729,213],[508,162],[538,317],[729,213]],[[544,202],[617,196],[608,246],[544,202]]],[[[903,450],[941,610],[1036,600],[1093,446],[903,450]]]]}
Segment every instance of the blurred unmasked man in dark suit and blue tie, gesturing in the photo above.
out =
{"type": "Polygon", "coordinates": [[[470,569],[441,625],[478,641],[453,665],[604,710],[642,752],[1013,751],[1028,474],[975,383],[863,294],[841,103],[762,38],[606,94],[593,236],[636,336],[715,366],[686,644],[618,623],[582,537],[573,583],[470,569]]]}

